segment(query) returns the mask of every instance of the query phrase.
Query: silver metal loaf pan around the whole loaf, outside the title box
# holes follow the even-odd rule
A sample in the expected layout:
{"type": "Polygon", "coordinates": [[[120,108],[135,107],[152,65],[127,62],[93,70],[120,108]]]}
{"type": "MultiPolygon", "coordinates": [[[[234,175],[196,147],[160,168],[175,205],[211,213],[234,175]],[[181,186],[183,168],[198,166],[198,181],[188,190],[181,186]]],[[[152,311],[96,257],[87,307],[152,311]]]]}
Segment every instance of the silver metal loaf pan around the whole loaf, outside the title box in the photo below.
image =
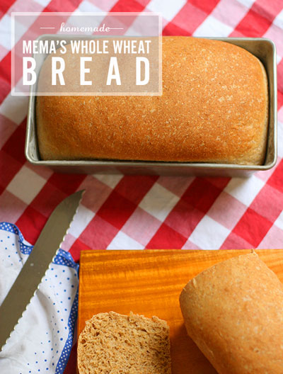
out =
{"type": "MultiPolygon", "coordinates": [[[[53,35],[54,36],[54,35],[53,35]]],[[[57,37],[60,38],[60,37],[57,37]]],[[[66,37],[65,37],[66,38],[66,37]]],[[[155,174],[171,176],[249,176],[255,171],[268,170],[277,161],[277,61],[272,40],[263,38],[207,38],[222,40],[243,47],[260,59],[265,66],[269,89],[269,126],[267,153],[263,165],[212,164],[202,162],[144,161],[43,161],[37,147],[35,96],[30,95],[25,138],[25,157],[34,165],[49,166],[54,171],[80,174],[155,174]]]]}

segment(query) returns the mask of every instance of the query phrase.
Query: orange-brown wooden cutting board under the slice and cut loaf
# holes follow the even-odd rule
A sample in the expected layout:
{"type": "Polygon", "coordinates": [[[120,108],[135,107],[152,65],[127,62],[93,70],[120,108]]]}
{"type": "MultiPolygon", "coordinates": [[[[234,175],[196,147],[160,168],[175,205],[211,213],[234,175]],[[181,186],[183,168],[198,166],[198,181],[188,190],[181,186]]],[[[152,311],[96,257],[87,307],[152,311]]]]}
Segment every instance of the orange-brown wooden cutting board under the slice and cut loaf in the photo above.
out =
{"type": "MultiPolygon", "coordinates": [[[[93,314],[111,310],[156,315],[170,327],[173,374],[216,373],[187,336],[179,307],[184,285],[238,251],[81,251],[78,330],[93,314]]],[[[283,281],[283,249],[256,251],[283,281]]]]}

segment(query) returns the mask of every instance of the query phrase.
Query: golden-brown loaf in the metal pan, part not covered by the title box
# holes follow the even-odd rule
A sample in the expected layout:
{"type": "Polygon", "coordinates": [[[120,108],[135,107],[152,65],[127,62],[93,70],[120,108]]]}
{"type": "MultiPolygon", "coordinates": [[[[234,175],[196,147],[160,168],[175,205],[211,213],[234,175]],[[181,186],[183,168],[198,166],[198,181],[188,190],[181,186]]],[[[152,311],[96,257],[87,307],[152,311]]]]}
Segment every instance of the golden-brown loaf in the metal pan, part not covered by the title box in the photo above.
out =
{"type": "Polygon", "coordinates": [[[163,37],[162,96],[37,96],[40,157],[262,164],[267,109],[250,52],[163,37]]]}

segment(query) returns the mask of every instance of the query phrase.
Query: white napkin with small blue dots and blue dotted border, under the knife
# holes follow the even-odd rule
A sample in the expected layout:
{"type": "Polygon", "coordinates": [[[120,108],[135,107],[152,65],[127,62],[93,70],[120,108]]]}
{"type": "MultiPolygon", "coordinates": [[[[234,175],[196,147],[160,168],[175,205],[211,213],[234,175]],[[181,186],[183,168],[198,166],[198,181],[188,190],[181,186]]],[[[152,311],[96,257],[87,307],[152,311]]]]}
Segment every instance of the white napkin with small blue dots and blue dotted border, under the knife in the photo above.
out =
{"type": "MultiPolygon", "coordinates": [[[[0,223],[0,304],[33,246],[18,227],[0,223]]],[[[1,374],[63,373],[73,344],[79,265],[59,249],[0,353],[1,374]]]]}

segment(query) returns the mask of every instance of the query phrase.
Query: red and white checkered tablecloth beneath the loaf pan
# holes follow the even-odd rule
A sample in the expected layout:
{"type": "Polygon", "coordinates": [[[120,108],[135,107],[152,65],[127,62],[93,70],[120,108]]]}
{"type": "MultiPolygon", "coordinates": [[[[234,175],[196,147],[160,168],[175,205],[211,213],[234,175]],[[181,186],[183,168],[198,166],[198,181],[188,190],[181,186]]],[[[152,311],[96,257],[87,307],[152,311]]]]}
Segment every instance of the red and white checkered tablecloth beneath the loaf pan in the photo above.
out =
{"type": "MultiPolygon", "coordinates": [[[[282,248],[282,30],[283,0],[1,0],[0,221],[15,223],[34,244],[54,207],[86,188],[64,242],[76,260],[81,249],[282,248]],[[28,98],[10,94],[12,11],[158,11],[163,35],[272,39],[278,62],[277,166],[250,179],[229,179],[64,175],[30,165],[24,156],[28,98]]],[[[73,360],[67,373],[73,373],[73,360]]]]}

